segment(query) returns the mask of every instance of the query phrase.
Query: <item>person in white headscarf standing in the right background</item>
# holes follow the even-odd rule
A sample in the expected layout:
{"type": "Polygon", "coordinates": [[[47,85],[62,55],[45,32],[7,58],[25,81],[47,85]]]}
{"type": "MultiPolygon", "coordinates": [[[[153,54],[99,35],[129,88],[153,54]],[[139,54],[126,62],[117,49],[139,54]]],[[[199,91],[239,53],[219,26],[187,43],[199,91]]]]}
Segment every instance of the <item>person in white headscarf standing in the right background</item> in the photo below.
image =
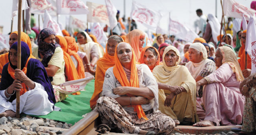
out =
{"type": "Polygon", "coordinates": [[[207,16],[208,23],[206,25],[206,30],[204,33],[204,40],[206,42],[213,42],[215,47],[217,47],[217,36],[219,36],[219,32],[221,30],[221,24],[218,19],[213,14],[208,14],[207,16]]]}

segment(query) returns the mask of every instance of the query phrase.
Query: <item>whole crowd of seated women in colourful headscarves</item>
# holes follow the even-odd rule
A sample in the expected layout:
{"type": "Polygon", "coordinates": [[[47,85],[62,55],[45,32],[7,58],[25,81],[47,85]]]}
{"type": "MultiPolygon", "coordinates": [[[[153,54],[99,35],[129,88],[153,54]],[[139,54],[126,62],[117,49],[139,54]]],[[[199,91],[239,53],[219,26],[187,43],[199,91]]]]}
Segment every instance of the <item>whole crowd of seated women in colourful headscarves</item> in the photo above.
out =
{"type": "Polygon", "coordinates": [[[16,91],[22,97],[20,112],[46,115],[67,97],[55,85],[91,74],[95,90],[90,106],[99,111],[102,123],[119,132],[155,135],[170,134],[178,124],[243,124],[241,133],[255,133],[256,74],[245,69],[246,31],[241,33],[237,61],[225,35],[217,49],[203,38],[184,45],[165,43],[161,34],[151,46],[147,35],[135,29],[110,36],[104,52],[85,31],[73,38],[43,29],[33,48],[22,32],[19,70],[17,32],[12,32],[9,52],[0,55],[0,117],[15,117],[16,91]]]}

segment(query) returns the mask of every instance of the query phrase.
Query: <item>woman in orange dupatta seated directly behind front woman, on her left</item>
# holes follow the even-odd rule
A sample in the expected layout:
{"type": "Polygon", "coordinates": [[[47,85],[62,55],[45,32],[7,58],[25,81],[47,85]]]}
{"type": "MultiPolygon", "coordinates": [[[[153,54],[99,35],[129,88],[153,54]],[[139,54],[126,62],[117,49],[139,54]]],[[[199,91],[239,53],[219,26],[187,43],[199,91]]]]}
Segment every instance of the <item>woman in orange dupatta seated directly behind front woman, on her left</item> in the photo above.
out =
{"type": "Polygon", "coordinates": [[[95,108],[96,102],[98,98],[100,97],[100,93],[102,92],[102,86],[104,83],[104,77],[105,73],[108,70],[108,68],[113,67],[115,65],[115,47],[120,42],[123,42],[122,38],[117,35],[110,36],[108,38],[108,42],[106,45],[106,53],[102,58],[100,58],[96,65],[96,74],[95,74],[95,86],[94,86],[94,92],[93,96],[90,100],[90,106],[92,109],[95,108]]]}

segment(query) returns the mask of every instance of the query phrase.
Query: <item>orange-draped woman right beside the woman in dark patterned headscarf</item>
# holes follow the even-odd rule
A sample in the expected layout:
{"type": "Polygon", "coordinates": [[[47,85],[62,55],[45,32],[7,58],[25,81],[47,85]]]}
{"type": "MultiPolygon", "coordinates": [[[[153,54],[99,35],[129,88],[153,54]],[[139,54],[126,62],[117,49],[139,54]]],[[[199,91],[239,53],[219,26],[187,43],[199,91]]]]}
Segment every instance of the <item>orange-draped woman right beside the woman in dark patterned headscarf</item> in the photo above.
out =
{"type": "Polygon", "coordinates": [[[68,45],[65,38],[62,36],[56,36],[56,42],[61,46],[63,50],[64,60],[65,60],[65,77],[66,81],[72,81],[79,79],[76,67],[70,58],[69,54],[67,53],[68,45]]]}

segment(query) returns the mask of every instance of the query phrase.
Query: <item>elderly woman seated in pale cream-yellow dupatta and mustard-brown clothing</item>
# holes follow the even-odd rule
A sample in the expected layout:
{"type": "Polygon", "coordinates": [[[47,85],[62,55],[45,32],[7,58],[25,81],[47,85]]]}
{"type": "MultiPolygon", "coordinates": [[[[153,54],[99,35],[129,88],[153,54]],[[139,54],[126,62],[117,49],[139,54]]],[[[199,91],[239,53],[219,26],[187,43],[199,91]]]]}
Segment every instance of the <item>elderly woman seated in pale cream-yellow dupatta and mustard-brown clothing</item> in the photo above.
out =
{"type": "Polygon", "coordinates": [[[158,81],[159,110],[174,119],[176,124],[199,121],[196,110],[196,82],[182,65],[178,49],[168,46],[163,52],[163,65],[154,68],[158,81]],[[169,94],[167,97],[165,94],[169,94]]]}

